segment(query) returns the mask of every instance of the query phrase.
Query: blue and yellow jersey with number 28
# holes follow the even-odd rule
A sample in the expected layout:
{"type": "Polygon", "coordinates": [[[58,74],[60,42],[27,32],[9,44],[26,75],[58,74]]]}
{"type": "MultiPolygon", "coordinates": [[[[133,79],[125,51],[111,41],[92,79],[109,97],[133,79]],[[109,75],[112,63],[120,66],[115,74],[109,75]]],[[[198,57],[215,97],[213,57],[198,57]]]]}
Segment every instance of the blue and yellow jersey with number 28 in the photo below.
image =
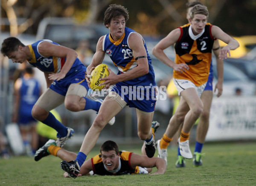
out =
{"type": "MultiPolygon", "coordinates": [[[[41,44],[41,42],[50,42],[52,44],[57,43],[51,41],[51,40],[40,40],[37,41],[29,46],[30,53],[32,55],[32,59],[28,61],[32,67],[37,67],[39,70],[43,72],[48,73],[59,73],[61,71],[61,68],[66,62],[66,58],[56,58],[54,56],[43,56],[38,52],[38,46],[41,44]]],[[[75,72],[79,67],[79,65],[83,65],[81,61],[76,58],[75,62],[73,63],[72,67],[70,68],[69,72],[66,76],[70,75],[71,73],[75,72]]]]}

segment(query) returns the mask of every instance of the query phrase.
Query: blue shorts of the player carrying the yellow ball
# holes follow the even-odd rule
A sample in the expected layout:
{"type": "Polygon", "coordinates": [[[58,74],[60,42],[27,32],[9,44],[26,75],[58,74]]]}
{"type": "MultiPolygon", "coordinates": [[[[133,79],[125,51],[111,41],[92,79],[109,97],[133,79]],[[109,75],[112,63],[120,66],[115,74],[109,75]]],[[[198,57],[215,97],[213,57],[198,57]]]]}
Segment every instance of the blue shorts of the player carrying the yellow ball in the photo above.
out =
{"type": "Polygon", "coordinates": [[[121,96],[131,108],[144,112],[153,112],[156,105],[157,88],[155,86],[124,85],[117,83],[112,89],[121,96]]]}

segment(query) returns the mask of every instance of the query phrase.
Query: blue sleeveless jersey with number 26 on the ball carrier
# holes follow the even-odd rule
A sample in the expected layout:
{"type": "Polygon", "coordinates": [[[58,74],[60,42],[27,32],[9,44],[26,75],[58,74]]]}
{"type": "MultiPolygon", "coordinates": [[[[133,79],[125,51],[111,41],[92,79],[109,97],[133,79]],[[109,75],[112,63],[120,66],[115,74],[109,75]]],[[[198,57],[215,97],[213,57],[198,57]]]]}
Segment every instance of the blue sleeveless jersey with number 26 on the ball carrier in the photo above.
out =
{"type": "MultiPolygon", "coordinates": [[[[128,39],[131,33],[137,33],[134,30],[125,27],[125,32],[122,37],[118,41],[114,41],[111,38],[110,34],[105,35],[103,40],[103,51],[109,55],[113,64],[118,68],[119,72],[127,73],[129,70],[134,69],[137,67],[137,61],[134,59],[132,49],[129,47],[128,39]]],[[[144,40],[143,40],[144,41],[144,40]]],[[[121,84],[125,85],[136,85],[139,84],[141,86],[154,86],[156,85],[154,80],[154,70],[151,65],[151,58],[148,54],[148,49],[144,41],[144,47],[147,52],[148,58],[148,67],[149,72],[144,76],[140,76],[138,78],[134,78],[128,81],[120,82],[121,84]]]]}

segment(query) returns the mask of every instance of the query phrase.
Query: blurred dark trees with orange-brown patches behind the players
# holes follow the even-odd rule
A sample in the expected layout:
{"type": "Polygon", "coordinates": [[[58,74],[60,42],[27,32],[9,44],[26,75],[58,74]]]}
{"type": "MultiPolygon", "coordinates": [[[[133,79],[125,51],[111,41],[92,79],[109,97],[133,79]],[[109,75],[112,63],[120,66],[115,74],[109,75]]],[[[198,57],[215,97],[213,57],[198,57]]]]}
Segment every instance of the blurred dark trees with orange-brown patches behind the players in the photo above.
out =
{"type": "MultiPolygon", "coordinates": [[[[166,35],[186,23],[184,4],[194,0],[1,0],[2,31],[35,35],[44,17],[75,17],[78,23],[102,22],[109,4],[130,10],[127,26],[143,35],[166,35]],[[9,21],[8,21],[9,20],[9,21]],[[9,25],[8,25],[9,24],[9,25]]],[[[201,0],[209,7],[209,22],[233,36],[254,35],[256,1],[201,0]],[[225,18],[223,18],[225,17],[225,18]],[[244,29],[246,27],[246,29],[244,29]]]]}

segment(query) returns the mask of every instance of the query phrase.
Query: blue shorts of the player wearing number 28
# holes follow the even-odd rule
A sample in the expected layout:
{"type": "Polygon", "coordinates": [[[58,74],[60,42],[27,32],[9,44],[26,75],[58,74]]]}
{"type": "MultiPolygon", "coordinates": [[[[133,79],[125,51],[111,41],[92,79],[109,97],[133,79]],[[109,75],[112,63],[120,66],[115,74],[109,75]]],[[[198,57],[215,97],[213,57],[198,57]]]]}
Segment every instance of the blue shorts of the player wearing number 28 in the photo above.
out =
{"type": "Polygon", "coordinates": [[[90,88],[88,87],[86,81],[86,67],[84,65],[79,66],[81,68],[77,69],[75,72],[69,74],[65,78],[59,81],[53,81],[52,84],[49,86],[50,89],[55,91],[56,93],[61,94],[62,96],[66,96],[67,90],[70,84],[76,83],[81,84],[86,88],[88,91],[90,88]]]}

